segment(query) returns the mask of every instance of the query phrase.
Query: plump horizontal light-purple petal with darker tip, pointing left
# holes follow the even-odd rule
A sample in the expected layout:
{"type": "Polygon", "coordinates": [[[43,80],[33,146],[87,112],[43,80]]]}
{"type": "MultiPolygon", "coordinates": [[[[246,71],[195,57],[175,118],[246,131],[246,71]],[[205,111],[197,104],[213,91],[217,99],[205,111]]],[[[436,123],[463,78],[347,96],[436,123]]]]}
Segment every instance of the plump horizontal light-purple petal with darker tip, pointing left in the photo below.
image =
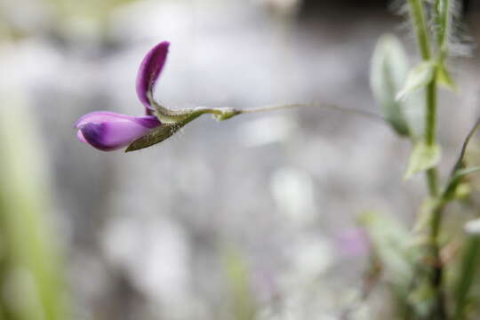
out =
{"type": "Polygon", "coordinates": [[[103,151],[124,148],[161,125],[156,116],[128,116],[97,111],[82,116],[75,124],[78,140],[103,151]]]}

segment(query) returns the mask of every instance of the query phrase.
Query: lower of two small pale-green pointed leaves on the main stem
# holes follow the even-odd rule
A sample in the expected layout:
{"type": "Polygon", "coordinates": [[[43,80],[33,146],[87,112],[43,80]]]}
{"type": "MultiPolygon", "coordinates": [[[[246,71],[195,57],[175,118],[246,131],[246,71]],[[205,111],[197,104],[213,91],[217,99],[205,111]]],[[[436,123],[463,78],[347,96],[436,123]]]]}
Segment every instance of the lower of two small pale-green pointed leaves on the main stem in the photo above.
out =
{"type": "Polygon", "coordinates": [[[441,148],[438,144],[428,145],[421,141],[413,147],[404,179],[410,179],[414,173],[426,171],[440,161],[441,148]]]}

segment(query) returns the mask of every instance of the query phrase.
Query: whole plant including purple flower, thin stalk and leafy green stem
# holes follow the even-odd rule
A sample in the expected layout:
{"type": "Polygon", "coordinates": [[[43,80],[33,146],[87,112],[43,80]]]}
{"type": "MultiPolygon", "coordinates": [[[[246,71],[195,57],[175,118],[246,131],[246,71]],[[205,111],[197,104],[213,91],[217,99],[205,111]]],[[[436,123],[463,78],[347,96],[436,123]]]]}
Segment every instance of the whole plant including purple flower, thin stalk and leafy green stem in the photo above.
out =
{"type": "MultiPolygon", "coordinates": [[[[399,319],[473,319],[471,310],[479,305],[479,300],[471,294],[476,284],[480,254],[477,232],[469,232],[464,239],[453,241],[443,221],[446,206],[465,196],[468,176],[480,171],[480,167],[469,166],[465,157],[480,120],[466,130],[457,161],[444,180],[439,179],[437,169],[442,159],[437,140],[437,91],[442,85],[456,92],[448,58],[455,41],[453,21],[458,19],[459,4],[457,0],[405,0],[404,5],[416,36],[420,61],[411,65],[404,45],[396,36],[380,38],[373,52],[370,83],[382,116],[319,103],[249,109],[165,108],[154,98],[156,80],[164,68],[168,52],[169,44],[164,42],[148,52],[137,77],[137,93],[146,108],[146,116],[114,116],[105,112],[87,115],[76,124],[78,137],[101,150],[128,146],[126,151],[133,151],[168,139],[181,127],[205,114],[223,121],[245,113],[316,107],[380,119],[400,137],[412,141],[404,179],[423,173],[428,196],[412,230],[377,213],[362,217],[361,222],[372,242],[374,278],[379,278],[380,271],[383,273],[381,282],[387,284],[395,298],[399,319]],[[452,247],[462,254],[447,254],[453,251],[452,247]],[[455,259],[460,256],[462,258],[455,259]],[[452,270],[457,270],[458,276],[447,276],[452,270]]],[[[236,261],[234,258],[230,260],[236,261]]],[[[230,277],[241,279],[243,285],[243,277],[238,276],[239,264],[230,262],[228,265],[230,277]]],[[[244,292],[240,284],[235,287],[237,292],[244,292]]],[[[371,285],[366,292],[372,292],[371,285]]],[[[243,305],[240,301],[244,299],[243,293],[237,299],[239,305],[243,305]]]]}

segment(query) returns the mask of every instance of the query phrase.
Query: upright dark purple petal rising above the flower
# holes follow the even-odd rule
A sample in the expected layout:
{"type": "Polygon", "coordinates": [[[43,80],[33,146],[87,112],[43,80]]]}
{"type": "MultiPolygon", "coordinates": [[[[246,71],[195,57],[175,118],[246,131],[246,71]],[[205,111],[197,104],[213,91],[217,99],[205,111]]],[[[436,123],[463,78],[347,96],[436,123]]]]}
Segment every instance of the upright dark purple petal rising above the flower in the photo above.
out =
{"type": "Polygon", "coordinates": [[[169,46],[170,43],[168,41],[156,44],[156,46],[147,53],[140,64],[139,73],[137,75],[137,95],[139,96],[141,103],[147,109],[148,115],[151,115],[152,110],[150,101],[148,101],[148,92],[150,92],[153,97],[156,79],[158,79],[158,76],[160,76],[160,73],[164,68],[169,46]]]}

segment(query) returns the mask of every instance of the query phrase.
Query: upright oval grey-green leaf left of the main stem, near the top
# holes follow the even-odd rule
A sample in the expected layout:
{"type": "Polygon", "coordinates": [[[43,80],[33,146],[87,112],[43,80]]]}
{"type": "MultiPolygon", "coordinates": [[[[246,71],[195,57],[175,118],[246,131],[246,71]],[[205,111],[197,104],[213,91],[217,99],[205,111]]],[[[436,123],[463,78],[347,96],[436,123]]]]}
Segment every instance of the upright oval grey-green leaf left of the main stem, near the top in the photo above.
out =
{"type": "Polygon", "coordinates": [[[381,113],[402,136],[409,135],[402,102],[396,100],[408,74],[408,59],[403,44],[393,35],[381,36],[373,51],[370,86],[381,113]]]}

